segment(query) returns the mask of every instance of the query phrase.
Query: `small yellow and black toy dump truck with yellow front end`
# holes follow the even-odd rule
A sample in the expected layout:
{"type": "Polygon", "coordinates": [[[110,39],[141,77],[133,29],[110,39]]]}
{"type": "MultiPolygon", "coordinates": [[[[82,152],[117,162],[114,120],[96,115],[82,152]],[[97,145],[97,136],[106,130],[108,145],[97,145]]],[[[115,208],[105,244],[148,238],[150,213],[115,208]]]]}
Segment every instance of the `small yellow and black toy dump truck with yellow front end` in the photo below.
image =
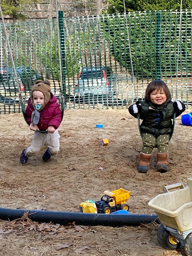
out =
{"type": "Polygon", "coordinates": [[[130,198],[130,191],[119,188],[113,191],[105,190],[103,194],[100,201],[87,200],[80,203],[80,211],[98,214],[111,214],[111,212],[121,209],[129,211],[130,207],[126,201],[130,198]]]}

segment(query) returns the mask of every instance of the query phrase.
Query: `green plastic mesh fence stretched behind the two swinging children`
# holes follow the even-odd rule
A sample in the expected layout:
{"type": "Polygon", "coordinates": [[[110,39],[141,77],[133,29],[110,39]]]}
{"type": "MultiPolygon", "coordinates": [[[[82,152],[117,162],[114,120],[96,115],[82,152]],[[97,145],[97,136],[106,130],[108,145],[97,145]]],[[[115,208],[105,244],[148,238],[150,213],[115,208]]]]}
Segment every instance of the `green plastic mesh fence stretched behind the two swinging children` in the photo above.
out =
{"type": "Polygon", "coordinates": [[[56,19],[6,23],[18,85],[0,24],[0,113],[20,112],[17,86],[27,102],[35,80],[46,78],[66,108],[128,108],[153,79],[191,105],[191,10],[75,18],[59,11],[58,24],[59,47],[56,19]]]}

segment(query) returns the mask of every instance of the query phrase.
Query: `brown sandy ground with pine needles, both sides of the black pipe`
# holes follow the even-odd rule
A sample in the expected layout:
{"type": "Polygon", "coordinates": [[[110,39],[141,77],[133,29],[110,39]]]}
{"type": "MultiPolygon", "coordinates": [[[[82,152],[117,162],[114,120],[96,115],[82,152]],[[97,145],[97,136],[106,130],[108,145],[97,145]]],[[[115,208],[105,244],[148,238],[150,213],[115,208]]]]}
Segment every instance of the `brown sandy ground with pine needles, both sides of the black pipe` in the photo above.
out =
{"type": "MultiPolygon", "coordinates": [[[[190,110],[191,111],[191,110],[190,110]]],[[[185,113],[188,113],[185,111],[185,113]]],[[[191,177],[192,127],[176,119],[169,143],[170,169],[156,172],[156,150],[151,169],[136,170],[142,141],[137,119],[128,110],[66,110],[59,127],[60,152],[49,162],[41,156],[19,163],[33,132],[22,114],[0,115],[1,207],[79,212],[79,203],[100,200],[104,190],[131,191],[130,214],[155,214],[147,203],[162,193],[163,185],[191,177]],[[103,129],[97,129],[102,123],[103,129]],[[109,139],[103,146],[101,140],[109,139]]],[[[75,223],[32,222],[28,215],[12,222],[0,221],[1,255],[185,255],[184,249],[169,251],[157,241],[159,224],[140,226],[80,226],[75,223]]]]}

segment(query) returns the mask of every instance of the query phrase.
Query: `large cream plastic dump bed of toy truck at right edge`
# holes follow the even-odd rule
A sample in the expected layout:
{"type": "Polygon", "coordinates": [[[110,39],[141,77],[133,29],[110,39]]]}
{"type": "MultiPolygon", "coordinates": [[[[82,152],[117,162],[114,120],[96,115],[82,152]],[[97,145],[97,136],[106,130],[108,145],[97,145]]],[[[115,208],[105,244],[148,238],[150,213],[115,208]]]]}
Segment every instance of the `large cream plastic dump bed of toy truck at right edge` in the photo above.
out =
{"type": "Polygon", "coordinates": [[[182,189],[156,196],[148,207],[155,210],[163,225],[180,232],[192,229],[192,179],[188,178],[182,189]]]}

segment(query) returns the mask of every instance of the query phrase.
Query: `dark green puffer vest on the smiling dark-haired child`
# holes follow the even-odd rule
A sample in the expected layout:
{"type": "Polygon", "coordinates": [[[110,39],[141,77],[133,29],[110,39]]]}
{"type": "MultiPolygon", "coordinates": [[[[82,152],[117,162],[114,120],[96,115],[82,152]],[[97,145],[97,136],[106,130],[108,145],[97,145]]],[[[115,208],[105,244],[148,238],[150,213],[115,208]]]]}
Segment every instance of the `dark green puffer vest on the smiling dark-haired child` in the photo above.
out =
{"type": "MultiPolygon", "coordinates": [[[[139,110],[142,133],[150,133],[155,137],[162,134],[171,134],[173,131],[172,118],[174,117],[173,102],[168,99],[162,105],[153,104],[151,101],[141,101],[139,110]]],[[[140,105],[139,104],[139,105],[140,105]]]]}

